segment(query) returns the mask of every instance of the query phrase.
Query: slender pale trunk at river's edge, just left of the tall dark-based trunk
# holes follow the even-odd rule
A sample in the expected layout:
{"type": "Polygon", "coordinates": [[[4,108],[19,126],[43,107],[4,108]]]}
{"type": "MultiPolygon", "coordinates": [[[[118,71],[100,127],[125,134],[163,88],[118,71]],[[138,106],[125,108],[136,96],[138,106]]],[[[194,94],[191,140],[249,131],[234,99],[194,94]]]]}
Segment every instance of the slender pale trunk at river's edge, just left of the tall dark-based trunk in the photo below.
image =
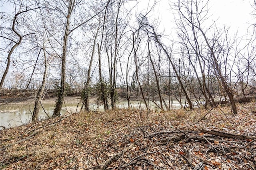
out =
{"type": "MultiPolygon", "coordinates": [[[[41,49],[40,49],[40,51],[41,51],[41,49]]],[[[34,104],[32,123],[35,123],[38,121],[40,102],[42,101],[44,89],[45,89],[45,85],[46,85],[47,69],[48,69],[48,64],[47,64],[47,60],[46,60],[46,52],[44,51],[44,74],[43,74],[42,84],[41,84],[40,88],[38,89],[38,92],[36,93],[36,101],[34,104]]]]}

